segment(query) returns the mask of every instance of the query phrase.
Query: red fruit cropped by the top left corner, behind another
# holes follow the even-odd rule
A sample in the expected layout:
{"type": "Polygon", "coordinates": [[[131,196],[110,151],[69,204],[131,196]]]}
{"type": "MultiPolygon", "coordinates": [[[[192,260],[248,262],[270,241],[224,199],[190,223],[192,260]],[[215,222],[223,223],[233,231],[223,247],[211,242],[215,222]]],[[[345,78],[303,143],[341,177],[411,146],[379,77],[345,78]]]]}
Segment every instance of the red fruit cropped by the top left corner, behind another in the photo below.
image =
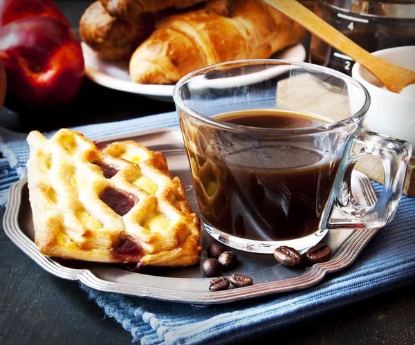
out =
{"type": "Polygon", "coordinates": [[[51,17],[71,26],[52,0],[0,0],[0,27],[24,17],[51,17]]]}

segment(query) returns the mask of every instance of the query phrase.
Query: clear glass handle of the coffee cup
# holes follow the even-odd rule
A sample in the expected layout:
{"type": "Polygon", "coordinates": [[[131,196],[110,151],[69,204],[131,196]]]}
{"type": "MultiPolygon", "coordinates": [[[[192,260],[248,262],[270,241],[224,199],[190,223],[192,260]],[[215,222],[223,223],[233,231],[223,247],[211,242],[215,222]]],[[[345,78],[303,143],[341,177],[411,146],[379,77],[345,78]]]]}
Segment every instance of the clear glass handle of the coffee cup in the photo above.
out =
{"type": "Polygon", "coordinates": [[[394,216],[403,194],[407,166],[412,154],[408,142],[361,129],[347,143],[344,159],[335,177],[333,212],[327,222],[329,229],[348,227],[378,228],[394,216]],[[356,162],[366,154],[382,163],[384,183],[378,201],[371,206],[360,205],[351,192],[351,172],[356,162]],[[333,217],[340,212],[340,219],[333,217]],[[332,219],[334,218],[334,219],[332,219]]]}

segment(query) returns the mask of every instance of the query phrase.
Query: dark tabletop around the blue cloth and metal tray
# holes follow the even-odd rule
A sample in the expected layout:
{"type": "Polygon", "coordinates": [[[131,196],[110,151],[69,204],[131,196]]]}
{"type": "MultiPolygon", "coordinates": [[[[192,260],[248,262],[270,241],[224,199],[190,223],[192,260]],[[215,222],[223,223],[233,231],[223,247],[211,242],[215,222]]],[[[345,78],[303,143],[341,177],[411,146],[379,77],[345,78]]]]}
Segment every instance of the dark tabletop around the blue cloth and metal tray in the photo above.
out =
{"type": "MultiPolygon", "coordinates": [[[[1,1],[1,0],[0,0],[1,1]]],[[[74,28],[91,1],[56,1],[74,28]]],[[[0,125],[27,133],[174,111],[174,104],[110,90],[85,80],[71,106],[53,113],[4,108],[0,125]],[[17,111],[17,113],[15,111],[17,111]]],[[[3,216],[3,211],[0,214],[3,216]]],[[[415,254],[415,248],[414,248],[415,254]]],[[[415,285],[264,335],[284,344],[415,344],[415,285]]],[[[267,340],[268,339],[268,340],[267,340]]],[[[40,268],[0,231],[0,344],[131,344],[131,335],[77,282],[40,268]]],[[[250,339],[252,341],[252,339],[250,339]]]]}

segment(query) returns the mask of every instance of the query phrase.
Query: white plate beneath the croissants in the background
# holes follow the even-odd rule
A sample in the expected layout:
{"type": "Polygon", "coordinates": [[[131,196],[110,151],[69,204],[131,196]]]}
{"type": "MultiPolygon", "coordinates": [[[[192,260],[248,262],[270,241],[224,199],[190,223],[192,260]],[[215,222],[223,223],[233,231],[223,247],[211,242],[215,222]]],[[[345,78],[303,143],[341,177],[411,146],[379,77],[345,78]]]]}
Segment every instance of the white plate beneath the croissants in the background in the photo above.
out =
{"type": "MultiPolygon", "coordinates": [[[[137,93],[155,100],[173,102],[174,85],[149,85],[131,82],[129,62],[109,62],[100,59],[93,50],[82,42],[86,76],[93,82],[118,91],[137,93]]],[[[292,62],[304,62],[306,50],[302,44],[286,48],[272,56],[273,59],[284,59],[292,62]]]]}

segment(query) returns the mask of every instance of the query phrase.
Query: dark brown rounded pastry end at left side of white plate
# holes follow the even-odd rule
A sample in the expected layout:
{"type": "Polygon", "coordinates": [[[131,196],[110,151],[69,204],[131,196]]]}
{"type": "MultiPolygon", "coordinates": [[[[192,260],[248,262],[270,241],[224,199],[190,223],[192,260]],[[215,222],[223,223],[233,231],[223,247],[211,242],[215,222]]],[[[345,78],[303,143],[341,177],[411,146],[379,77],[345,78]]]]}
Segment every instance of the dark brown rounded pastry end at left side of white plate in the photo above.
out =
{"type": "Polygon", "coordinates": [[[138,17],[131,23],[111,17],[100,1],[95,1],[80,19],[80,37],[102,59],[129,59],[138,45],[154,29],[151,19],[138,17]]]}

